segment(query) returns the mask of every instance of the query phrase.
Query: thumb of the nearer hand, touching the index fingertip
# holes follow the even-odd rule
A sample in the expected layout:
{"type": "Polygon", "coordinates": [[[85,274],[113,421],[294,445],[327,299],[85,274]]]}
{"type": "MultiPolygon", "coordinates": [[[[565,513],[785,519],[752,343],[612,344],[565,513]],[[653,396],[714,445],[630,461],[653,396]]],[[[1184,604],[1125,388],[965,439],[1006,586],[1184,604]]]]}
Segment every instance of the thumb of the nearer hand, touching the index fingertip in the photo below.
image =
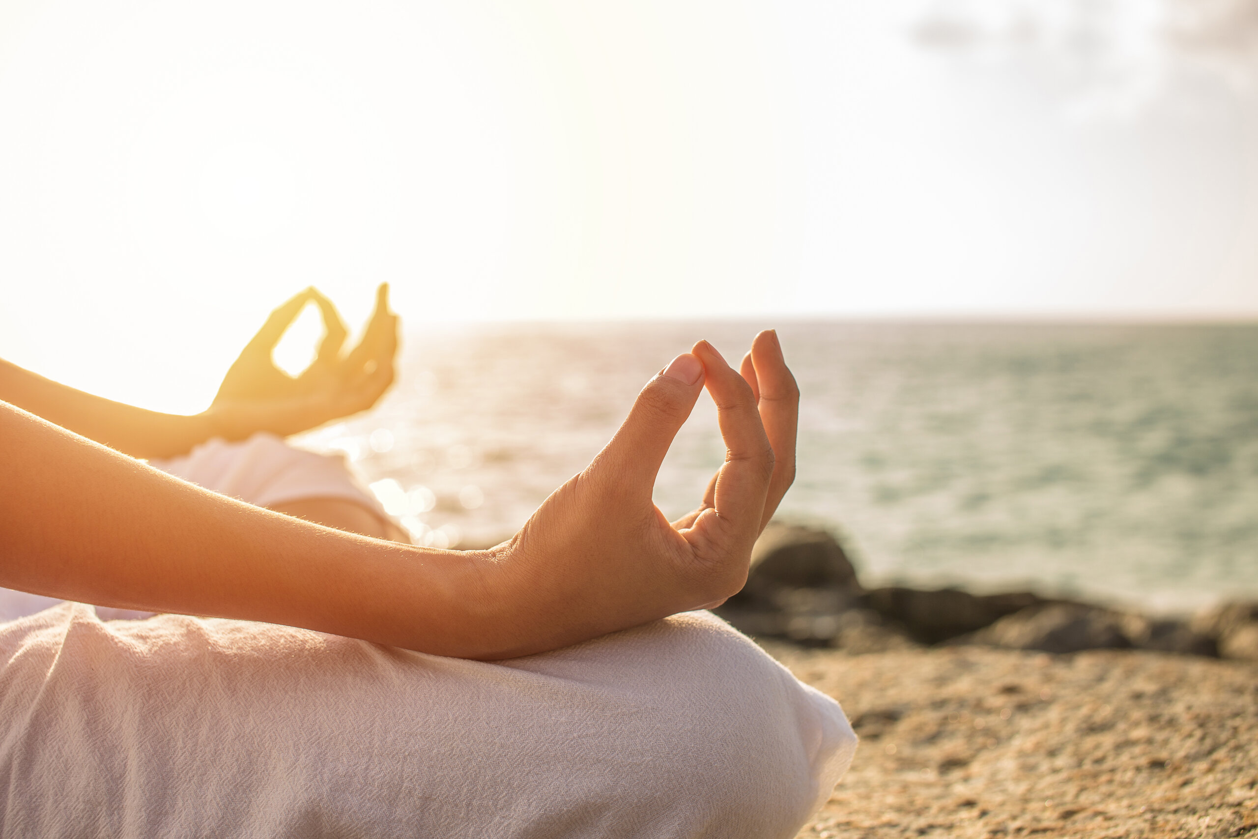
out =
{"type": "Polygon", "coordinates": [[[659,464],[703,390],[703,364],[688,352],[673,358],[638,394],[629,416],[590,464],[589,474],[648,497],[659,464]]]}

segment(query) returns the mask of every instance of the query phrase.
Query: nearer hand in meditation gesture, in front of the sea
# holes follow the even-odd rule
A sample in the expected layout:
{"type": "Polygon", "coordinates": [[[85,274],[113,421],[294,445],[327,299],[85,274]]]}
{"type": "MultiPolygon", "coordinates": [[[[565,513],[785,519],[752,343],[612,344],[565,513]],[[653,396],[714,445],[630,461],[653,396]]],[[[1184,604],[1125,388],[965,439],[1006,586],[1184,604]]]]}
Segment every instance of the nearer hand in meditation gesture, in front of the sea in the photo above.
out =
{"type": "Polygon", "coordinates": [[[498,596],[527,604],[503,624],[520,638],[546,636],[543,647],[504,636],[496,657],[715,605],[746,582],[751,547],[795,477],[799,390],[771,331],[756,336],[742,375],[706,341],[692,352],[648,382],[594,462],[494,550],[494,574],[507,586],[498,596]],[[703,502],[668,522],[652,489],[704,385],[725,464],[703,502]]]}

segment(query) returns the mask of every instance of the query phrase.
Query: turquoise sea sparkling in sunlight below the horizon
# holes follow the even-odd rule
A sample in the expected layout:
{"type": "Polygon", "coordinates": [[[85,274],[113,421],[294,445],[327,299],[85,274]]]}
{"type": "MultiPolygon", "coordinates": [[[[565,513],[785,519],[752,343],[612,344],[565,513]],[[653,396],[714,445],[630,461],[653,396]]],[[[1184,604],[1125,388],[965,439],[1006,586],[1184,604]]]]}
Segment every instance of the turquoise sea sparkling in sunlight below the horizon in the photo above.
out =
{"type": "MultiPolygon", "coordinates": [[[[589,462],[673,355],[706,337],[733,360],[762,326],[411,335],[385,403],[306,444],[426,487],[408,512],[439,538],[493,541],[589,462]]],[[[1161,610],[1258,594],[1258,327],[777,327],[804,394],[781,514],[840,532],[867,581],[1161,610]]],[[[722,455],[704,397],[657,503],[692,507],[722,455]]]]}

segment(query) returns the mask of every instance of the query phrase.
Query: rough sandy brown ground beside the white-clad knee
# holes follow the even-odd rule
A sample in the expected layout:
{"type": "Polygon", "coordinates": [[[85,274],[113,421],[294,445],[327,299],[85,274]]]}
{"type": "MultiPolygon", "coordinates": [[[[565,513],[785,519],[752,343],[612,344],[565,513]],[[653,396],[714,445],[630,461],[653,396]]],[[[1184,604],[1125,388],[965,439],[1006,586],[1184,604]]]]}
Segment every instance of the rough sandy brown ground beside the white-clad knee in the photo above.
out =
{"type": "Polygon", "coordinates": [[[766,648],[862,738],[799,836],[1258,836],[1258,664],[766,648]]]}

